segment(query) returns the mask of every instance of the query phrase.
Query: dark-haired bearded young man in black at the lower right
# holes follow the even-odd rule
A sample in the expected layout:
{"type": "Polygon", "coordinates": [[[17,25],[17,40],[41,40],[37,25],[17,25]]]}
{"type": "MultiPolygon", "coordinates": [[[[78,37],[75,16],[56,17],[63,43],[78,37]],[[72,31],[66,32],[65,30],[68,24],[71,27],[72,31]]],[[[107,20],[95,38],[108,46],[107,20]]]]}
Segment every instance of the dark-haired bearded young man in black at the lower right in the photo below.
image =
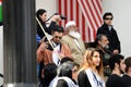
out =
{"type": "Polygon", "coordinates": [[[109,59],[109,66],[112,72],[107,79],[106,87],[127,87],[121,77],[126,70],[123,59],[124,57],[121,54],[115,54],[109,59]]]}

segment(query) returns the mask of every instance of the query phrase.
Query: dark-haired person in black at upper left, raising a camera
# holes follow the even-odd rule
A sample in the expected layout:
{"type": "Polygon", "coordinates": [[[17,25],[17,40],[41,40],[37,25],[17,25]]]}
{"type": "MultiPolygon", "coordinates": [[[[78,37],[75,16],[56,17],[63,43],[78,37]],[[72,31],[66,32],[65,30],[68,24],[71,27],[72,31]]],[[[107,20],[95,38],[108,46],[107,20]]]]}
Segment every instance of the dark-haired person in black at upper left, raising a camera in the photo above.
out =
{"type": "MultiPolygon", "coordinates": [[[[41,23],[45,32],[49,35],[51,35],[51,29],[53,29],[53,27],[56,27],[56,25],[58,25],[58,22],[61,20],[59,14],[52,15],[50,18],[48,18],[48,20],[51,20],[51,23],[47,27],[47,25],[46,25],[47,11],[44,9],[39,9],[36,12],[36,16],[39,20],[39,22],[41,23]]],[[[37,35],[40,37],[40,39],[45,36],[43,29],[40,28],[40,26],[38,24],[37,24],[37,35]]]]}

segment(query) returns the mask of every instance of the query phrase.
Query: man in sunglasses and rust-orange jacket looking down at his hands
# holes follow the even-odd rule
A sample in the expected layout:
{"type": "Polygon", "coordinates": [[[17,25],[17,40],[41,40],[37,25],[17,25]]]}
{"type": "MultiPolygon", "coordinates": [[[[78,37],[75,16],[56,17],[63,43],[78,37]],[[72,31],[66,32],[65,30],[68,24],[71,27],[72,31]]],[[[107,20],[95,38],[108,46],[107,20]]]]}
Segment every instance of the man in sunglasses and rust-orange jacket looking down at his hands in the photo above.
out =
{"type": "Polygon", "coordinates": [[[60,41],[63,36],[63,28],[57,25],[51,35],[52,39],[50,41],[55,49],[51,48],[49,42],[43,42],[37,49],[37,63],[43,61],[44,64],[55,63],[59,65],[62,58],[72,58],[70,48],[60,41]]]}

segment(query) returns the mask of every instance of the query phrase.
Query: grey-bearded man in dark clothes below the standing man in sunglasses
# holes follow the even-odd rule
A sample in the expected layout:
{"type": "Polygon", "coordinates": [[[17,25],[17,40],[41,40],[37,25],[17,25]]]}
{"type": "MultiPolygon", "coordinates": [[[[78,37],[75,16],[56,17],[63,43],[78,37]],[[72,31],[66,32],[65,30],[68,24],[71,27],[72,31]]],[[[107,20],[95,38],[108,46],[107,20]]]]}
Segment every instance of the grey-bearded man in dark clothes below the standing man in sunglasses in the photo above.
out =
{"type": "Polygon", "coordinates": [[[103,65],[104,65],[104,75],[109,76],[111,71],[109,69],[108,60],[110,59],[111,51],[109,50],[109,40],[106,35],[98,34],[95,39],[96,48],[98,48],[103,53],[103,65]]]}

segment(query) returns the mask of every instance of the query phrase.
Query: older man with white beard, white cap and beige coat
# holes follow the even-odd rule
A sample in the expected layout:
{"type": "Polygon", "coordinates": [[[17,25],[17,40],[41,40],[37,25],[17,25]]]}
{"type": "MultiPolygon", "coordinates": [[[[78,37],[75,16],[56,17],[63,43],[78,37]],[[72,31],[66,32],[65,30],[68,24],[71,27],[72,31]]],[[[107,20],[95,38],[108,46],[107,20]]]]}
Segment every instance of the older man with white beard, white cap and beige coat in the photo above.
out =
{"type": "Polygon", "coordinates": [[[85,52],[85,46],[81,38],[79,28],[74,21],[69,21],[66,24],[67,35],[62,37],[62,42],[67,44],[71,50],[73,60],[75,63],[81,64],[83,54],[85,52]]]}

